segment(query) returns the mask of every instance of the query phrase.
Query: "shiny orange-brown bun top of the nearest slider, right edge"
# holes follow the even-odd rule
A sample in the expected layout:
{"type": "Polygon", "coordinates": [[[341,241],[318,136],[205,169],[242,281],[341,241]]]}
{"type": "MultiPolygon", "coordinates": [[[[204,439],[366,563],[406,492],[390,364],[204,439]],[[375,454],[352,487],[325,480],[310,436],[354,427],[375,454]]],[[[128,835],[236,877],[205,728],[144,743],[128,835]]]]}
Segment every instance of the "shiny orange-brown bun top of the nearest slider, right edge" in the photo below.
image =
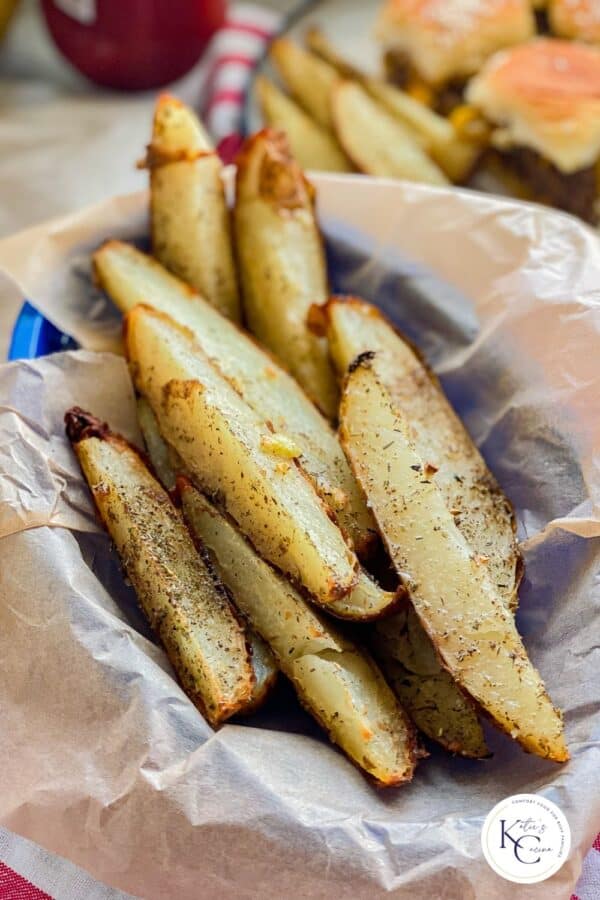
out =
{"type": "Polygon", "coordinates": [[[600,50],[539,38],[495,54],[467,100],[501,126],[497,146],[530,147],[562,172],[600,155],[600,50]]]}

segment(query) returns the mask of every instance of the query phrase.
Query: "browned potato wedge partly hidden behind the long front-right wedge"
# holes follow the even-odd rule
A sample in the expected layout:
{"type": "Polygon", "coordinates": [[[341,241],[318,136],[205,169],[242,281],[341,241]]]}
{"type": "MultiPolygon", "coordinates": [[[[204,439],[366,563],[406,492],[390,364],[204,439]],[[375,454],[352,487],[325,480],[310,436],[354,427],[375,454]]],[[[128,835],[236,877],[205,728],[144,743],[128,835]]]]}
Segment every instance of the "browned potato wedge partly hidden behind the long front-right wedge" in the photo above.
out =
{"type": "Polygon", "coordinates": [[[474,553],[486,559],[492,584],[514,611],[522,574],[514,512],[435,374],[371,304],[333,297],[318,314],[325,320],[341,377],[357,356],[377,354],[379,377],[410,422],[417,453],[435,468],[435,483],[458,530],[474,553]]]}

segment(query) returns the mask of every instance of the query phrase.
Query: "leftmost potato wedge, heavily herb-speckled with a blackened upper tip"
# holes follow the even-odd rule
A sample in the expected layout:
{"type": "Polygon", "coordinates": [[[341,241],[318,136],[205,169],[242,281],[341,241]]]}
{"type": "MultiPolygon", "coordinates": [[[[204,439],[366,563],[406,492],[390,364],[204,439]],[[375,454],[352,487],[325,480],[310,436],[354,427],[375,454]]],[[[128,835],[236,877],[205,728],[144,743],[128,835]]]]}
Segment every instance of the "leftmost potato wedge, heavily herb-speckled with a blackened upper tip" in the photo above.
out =
{"type": "Polygon", "coordinates": [[[78,407],[65,423],[142,609],[185,692],[219,725],[243,709],[255,684],[245,632],[223,586],[139,453],[78,407]]]}

